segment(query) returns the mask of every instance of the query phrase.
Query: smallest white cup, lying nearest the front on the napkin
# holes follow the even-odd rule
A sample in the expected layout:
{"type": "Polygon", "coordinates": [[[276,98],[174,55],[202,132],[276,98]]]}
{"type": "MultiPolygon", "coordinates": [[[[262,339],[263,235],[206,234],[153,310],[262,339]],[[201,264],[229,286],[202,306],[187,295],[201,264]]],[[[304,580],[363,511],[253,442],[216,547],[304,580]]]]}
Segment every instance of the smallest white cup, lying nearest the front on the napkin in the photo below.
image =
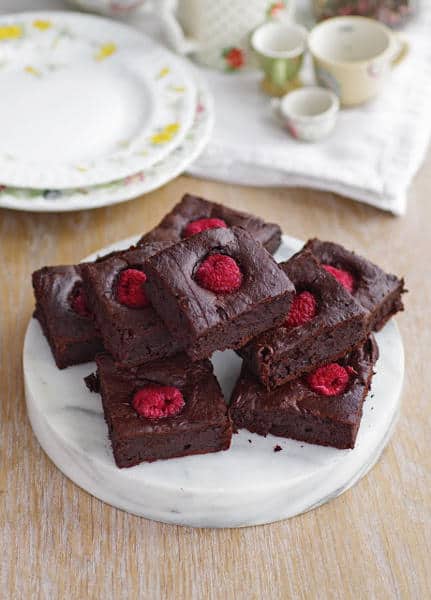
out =
{"type": "Polygon", "coordinates": [[[315,142],[333,130],[340,102],[334,92],[310,86],[273,98],[271,107],[294,138],[315,142]]]}

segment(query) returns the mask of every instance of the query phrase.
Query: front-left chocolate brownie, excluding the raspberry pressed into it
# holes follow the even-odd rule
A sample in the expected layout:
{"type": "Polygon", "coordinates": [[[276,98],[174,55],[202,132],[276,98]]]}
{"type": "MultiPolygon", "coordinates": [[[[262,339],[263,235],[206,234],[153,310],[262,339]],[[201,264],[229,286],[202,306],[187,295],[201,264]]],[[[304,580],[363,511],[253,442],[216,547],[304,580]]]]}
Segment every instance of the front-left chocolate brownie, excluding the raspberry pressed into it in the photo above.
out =
{"type": "Polygon", "coordinates": [[[229,448],[232,426],[209,361],[191,363],[186,355],[177,354],[124,370],[109,355],[99,354],[96,363],[118,467],[229,448]],[[181,392],[185,404],[178,414],[158,419],[138,414],[132,404],[135,393],[154,385],[181,392]]]}

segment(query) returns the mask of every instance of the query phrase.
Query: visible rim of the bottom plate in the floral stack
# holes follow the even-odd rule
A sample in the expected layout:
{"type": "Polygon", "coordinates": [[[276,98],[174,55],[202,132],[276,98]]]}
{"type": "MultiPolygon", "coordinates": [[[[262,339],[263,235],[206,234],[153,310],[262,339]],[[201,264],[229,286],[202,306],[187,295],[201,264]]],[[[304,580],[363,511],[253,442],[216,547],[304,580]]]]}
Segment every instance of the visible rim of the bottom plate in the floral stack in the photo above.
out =
{"type": "Polygon", "coordinates": [[[197,82],[194,121],[183,141],[166,158],[137,174],[102,185],[67,190],[25,189],[0,185],[0,207],[37,212],[66,212],[125,202],[168,183],[199,156],[214,124],[212,97],[197,82]]]}

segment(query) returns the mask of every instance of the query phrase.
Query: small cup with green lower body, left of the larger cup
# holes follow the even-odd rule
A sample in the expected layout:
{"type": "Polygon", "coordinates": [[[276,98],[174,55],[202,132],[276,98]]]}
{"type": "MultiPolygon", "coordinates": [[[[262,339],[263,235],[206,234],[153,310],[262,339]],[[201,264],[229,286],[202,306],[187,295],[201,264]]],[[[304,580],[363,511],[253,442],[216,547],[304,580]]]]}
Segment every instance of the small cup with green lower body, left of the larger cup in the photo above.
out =
{"type": "Polygon", "coordinates": [[[264,92],[284,96],[301,85],[298,74],[307,46],[305,27],[294,23],[265,23],[254,31],[251,45],[265,74],[264,92]]]}

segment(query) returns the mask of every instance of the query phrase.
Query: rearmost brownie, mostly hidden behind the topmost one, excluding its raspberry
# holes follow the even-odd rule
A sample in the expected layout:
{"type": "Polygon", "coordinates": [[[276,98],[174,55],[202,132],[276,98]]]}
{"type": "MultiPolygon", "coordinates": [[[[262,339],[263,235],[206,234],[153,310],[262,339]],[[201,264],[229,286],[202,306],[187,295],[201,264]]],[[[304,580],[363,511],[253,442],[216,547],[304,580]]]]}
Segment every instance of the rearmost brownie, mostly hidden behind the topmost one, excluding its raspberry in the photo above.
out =
{"type": "Polygon", "coordinates": [[[158,240],[178,242],[187,237],[187,226],[201,219],[221,219],[228,227],[242,227],[271,254],[281,243],[281,229],[275,223],[265,223],[253,215],[185,194],[181,202],[174,206],[157,227],[146,233],[138,244],[158,240]]]}

